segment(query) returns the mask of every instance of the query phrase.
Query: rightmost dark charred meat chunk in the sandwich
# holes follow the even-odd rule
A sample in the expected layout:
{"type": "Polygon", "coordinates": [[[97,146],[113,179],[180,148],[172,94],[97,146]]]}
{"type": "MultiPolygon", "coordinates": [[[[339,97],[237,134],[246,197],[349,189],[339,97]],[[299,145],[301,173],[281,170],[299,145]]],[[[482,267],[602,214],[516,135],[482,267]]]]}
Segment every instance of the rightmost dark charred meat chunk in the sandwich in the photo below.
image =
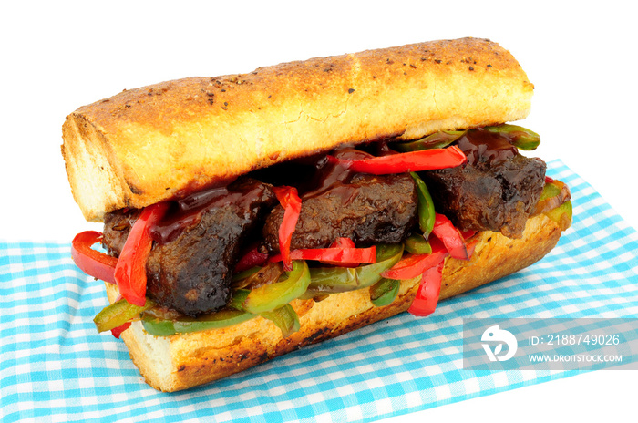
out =
{"type": "Polygon", "coordinates": [[[487,230],[520,238],[539,201],[545,169],[544,161],[515,154],[494,160],[489,166],[481,161],[468,162],[421,175],[437,211],[461,231],[487,230]]]}

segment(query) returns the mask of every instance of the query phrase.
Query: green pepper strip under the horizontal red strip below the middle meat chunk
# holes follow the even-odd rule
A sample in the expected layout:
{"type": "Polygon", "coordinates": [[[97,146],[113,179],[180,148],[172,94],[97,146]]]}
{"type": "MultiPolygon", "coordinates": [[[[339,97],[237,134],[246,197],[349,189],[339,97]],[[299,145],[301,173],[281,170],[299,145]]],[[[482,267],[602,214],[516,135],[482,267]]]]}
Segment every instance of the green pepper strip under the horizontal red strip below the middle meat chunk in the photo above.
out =
{"type": "Polygon", "coordinates": [[[312,282],[301,297],[314,298],[322,294],[344,293],[376,284],[382,272],[401,260],[403,244],[376,245],[376,263],[354,269],[345,267],[313,268],[310,270],[312,282]]]}

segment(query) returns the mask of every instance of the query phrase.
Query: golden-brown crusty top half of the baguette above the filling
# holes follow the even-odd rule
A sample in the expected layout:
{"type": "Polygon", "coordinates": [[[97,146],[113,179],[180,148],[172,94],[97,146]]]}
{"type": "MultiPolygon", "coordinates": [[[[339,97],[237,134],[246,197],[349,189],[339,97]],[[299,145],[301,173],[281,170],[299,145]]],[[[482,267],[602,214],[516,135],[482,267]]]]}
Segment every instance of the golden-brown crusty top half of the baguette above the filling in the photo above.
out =
{"type": "Polygon", "coordinates": [[[125,90],[67,116],[62,154],[100,222],[346,143],[523,119],[532,92],[498,44],[433,41],[125,90]]]}

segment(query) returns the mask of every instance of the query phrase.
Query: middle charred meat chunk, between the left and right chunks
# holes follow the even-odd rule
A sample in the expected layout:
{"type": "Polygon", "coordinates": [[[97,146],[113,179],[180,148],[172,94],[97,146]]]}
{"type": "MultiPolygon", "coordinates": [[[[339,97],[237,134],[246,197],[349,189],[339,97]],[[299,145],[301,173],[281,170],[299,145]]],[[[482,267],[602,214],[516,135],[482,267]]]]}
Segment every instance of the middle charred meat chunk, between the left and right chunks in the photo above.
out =
{"type": "MultiPolygon", "coordinates": [[[[263,228],[265,245],[279,252],[283,208],[277,206],[263,228]]],[[[329,189],[305,197],[291,249],[325,248],[340,237],[357,245],[396,243],[406,239],[417,222],[417,189],[409,174],[355,174],[329,189]]]]}

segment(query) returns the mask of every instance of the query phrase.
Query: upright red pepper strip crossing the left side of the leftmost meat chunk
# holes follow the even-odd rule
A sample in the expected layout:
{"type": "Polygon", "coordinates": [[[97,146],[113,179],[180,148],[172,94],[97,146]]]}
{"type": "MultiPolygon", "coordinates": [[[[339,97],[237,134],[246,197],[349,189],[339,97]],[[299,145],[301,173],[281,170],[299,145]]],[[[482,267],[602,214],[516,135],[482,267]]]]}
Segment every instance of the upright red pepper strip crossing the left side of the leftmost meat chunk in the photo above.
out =
{"type": "Polygon", "coordinates": [[[146,304],[146,262],[149,258],[153,240],[149,228],[160,222],[169,208],[168,202],[160,202],[144,208],[119,254],[115,267],[115,280],[119,293],[130,303],[139,306],[146,304]]]}

